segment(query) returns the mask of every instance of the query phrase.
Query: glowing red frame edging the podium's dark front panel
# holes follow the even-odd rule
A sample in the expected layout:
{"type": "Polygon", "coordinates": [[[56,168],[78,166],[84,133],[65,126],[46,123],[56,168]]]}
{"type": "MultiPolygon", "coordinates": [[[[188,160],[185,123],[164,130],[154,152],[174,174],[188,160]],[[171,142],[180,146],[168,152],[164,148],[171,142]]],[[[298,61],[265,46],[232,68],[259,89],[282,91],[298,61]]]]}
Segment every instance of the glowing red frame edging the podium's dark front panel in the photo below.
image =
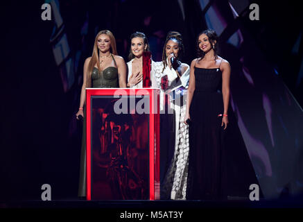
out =
{"type": "Polygon", "coordinates": [[[92,96],[149,96],[149,199],[159,199],[159,89],[128,89],[128,88],[106,88],[86,89],[86,126],[87,126],[87,200],[92,199],[92,156],[91,156],[91,108],[92,96]],[[156,152],[155,152],[156,151],[156,152]]]}

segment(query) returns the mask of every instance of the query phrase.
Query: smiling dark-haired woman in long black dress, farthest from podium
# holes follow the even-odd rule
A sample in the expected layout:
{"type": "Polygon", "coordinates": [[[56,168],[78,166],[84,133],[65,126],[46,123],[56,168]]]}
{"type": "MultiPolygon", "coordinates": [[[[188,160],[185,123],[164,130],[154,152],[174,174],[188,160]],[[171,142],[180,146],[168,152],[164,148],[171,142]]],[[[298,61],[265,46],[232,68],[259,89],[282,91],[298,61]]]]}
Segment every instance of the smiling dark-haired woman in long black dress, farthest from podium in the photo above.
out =
{"type": "Polygon", "coordinates": [[[230,101],[230,64],[217,55],[218,36],[198,35],[198,56],[191,62],[187,112],[189,123],[188,200],[227,198],[224,134],[230,101]]]}

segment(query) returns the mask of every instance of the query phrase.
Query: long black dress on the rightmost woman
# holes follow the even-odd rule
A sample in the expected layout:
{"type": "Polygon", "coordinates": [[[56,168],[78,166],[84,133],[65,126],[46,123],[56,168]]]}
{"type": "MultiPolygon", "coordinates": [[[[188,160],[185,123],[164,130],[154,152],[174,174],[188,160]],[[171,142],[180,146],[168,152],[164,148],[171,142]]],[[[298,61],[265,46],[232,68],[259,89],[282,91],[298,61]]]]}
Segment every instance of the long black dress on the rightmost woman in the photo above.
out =
{"type": "Polygon", "coordinates": [[[195,67],[196,89],[189,125],[189,177],[187,200],[227,198],[222,71],[195,67]]]}

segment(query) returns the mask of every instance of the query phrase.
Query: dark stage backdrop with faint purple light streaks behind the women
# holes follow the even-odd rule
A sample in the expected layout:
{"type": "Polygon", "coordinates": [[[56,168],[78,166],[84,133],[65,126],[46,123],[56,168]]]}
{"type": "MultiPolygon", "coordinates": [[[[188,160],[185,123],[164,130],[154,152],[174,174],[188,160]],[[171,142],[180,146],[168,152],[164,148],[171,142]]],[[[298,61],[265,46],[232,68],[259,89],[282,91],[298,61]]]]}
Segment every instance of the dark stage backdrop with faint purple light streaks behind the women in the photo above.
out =
{"type": "Polygon", "coordinates": [[[214,28],[219,55],[232,66],[239,146],[245,146],[264,196],[302,192],[303,42],[297,1],[45,2],[1,1],[4,206],[10,200],[41,200],[43,184],[51,185],[53,200],[77,198],[82,124],[75,114],[83,63],[103,29],[114,33],[125,62],[131,33],[146,33],[153,60],[159,61],[166,33],[179,31],[182,61],[190,64],[198,33],[214,28]],[[51,21],[41,18],[45,2],[52,6],[51,21]],[[250,3],[259,5],[259,21],[249,19],[250,3]]]}

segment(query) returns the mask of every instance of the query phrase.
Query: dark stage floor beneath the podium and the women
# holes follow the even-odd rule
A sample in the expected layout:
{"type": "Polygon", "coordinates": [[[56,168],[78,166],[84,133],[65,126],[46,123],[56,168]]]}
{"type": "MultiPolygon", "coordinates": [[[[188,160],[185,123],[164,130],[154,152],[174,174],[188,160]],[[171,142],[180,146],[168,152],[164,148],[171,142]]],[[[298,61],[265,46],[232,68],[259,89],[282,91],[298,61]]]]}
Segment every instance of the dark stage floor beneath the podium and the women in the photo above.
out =
{"type": "Polygon", "coordinates": [[[9,200],[0,208],[98,208],[98,209],[203,209],[203,208],[303,208],[303,196],[279,200],[235,198],[229,200],[9,200]]]}

